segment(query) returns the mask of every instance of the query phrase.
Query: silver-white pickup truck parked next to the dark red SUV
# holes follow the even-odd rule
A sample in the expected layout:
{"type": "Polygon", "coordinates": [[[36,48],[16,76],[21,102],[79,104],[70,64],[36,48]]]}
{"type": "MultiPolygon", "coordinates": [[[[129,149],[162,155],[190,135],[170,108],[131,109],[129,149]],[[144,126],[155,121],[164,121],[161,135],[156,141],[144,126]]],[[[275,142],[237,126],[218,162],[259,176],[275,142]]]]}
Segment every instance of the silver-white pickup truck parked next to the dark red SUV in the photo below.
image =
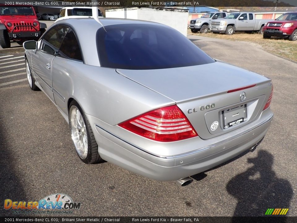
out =
{"type": "Polygon", "coordinates": [[[213,33],[232,35],[235,31],[262,33],[265,23],[270,20],[256,19],[252,12],[234,12],[223,19],[211,20],[210,30],[213,33]]]}

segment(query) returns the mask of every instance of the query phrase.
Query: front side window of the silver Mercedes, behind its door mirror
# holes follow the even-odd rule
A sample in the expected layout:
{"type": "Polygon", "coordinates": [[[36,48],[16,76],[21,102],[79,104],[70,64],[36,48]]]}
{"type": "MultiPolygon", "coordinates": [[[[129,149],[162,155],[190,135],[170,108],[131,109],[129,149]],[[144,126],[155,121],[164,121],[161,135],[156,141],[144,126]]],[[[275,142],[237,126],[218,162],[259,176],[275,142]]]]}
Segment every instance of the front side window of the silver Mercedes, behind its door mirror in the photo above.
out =
{"type": "Polygon", "coordinates": [[[51,28],[45,33],[42,39],[41,50],[49,54],[57,54],[68,29],[69,27],[65,25],[58,25],[51,28]]]}

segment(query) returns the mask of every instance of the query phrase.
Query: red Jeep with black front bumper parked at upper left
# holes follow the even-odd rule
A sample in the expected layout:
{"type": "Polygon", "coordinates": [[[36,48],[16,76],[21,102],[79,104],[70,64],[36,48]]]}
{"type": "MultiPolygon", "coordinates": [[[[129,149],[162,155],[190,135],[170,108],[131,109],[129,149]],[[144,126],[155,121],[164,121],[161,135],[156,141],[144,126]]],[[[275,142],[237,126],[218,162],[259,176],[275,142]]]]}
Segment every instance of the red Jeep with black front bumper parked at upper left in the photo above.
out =
{"type": "Polygon", "coordinates": [[[32,6],[0,4],[0,46],[9,48],[13,40],[22,45],[27,40],[38,40],[46,24],[39,23],[32,6]]]}

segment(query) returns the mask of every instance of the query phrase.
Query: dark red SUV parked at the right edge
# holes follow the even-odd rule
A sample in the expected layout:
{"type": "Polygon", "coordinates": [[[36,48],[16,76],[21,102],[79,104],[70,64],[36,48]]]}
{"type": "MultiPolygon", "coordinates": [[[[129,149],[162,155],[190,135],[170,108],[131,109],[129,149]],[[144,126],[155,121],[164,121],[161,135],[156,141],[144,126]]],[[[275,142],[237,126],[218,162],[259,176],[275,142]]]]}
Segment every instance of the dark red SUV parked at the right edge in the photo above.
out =
{"type": "Polygon", "coordinates": [[[297,12],[287,12],[263,27],[263,38],[282,37],[297,40],[297,12]]]}

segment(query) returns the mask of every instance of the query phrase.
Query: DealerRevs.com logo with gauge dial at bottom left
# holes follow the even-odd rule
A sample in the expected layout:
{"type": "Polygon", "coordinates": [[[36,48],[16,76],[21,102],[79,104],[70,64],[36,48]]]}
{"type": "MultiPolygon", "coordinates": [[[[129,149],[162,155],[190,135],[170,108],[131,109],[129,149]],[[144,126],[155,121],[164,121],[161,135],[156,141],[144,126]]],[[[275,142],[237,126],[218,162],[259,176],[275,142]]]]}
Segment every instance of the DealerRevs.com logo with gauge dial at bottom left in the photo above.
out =
{"type": "Polygon", "coordinates": [[[72,214],[74,209],[80,209],[81,203],[75,203],[65,194],[52,194],[39,201],[4,200],[4,209],[12,214],[72,214]]]}

